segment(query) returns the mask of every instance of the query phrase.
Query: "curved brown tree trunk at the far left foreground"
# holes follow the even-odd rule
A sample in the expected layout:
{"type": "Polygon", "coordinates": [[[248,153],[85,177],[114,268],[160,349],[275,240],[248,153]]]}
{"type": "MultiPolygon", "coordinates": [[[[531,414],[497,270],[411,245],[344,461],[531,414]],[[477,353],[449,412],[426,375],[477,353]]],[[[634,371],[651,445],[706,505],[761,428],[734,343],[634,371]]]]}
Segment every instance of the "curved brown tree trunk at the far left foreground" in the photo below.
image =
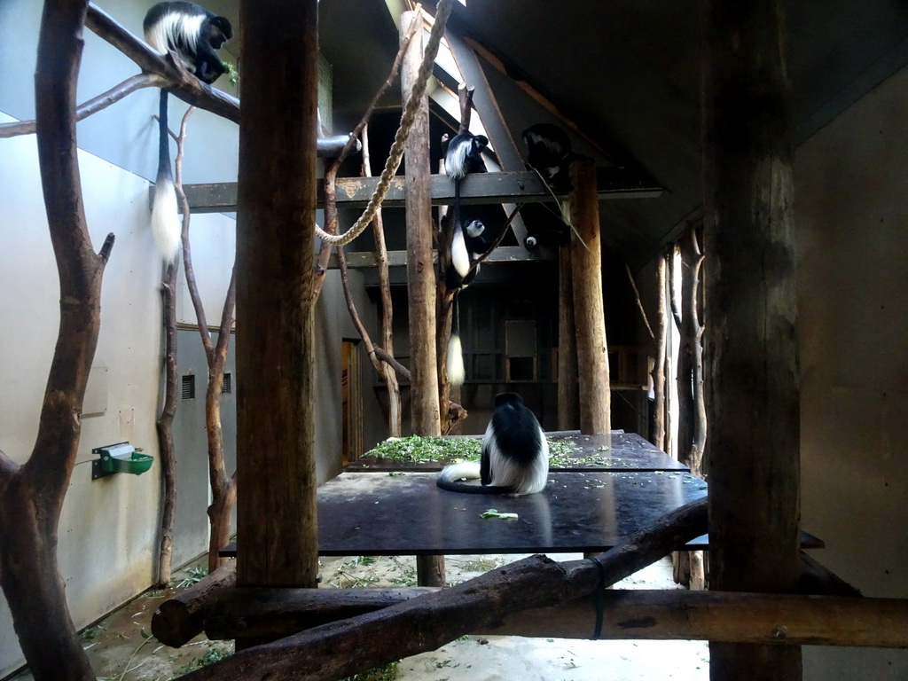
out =
{"type": "Polygon", "coordinates": [[[82,405],[101,326],[101,281],[114,246],[95,254],[75,144],[75,90],[84,0],[46,3],[35,74],[38,161],[60,281],[60,327],[35,449],[22,466],[0,453],[0,586],[38,681],[93,681],[57,565],[57,528],[81,434],[82,405]]]}

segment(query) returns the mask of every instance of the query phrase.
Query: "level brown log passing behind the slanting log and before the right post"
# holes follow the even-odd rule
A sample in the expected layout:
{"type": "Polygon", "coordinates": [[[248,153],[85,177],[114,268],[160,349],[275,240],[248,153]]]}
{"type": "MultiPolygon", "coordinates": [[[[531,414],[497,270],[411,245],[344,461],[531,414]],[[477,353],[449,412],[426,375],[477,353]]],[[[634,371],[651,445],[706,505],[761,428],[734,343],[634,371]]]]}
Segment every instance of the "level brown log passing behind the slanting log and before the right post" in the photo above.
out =
{"type": "MultiPolygon", "coordinates": [[[[432,587],[227,589],[205,619],[212,639],[273,639],[438,591],[432,587]]],[[[515,613],[471,634],[591,638],[594,598],[515,613]]],[[[818,646],[908,647],[908,600],[745,594],[722,591],[609,590],[600,638],[707,640],[818,646]]]]}

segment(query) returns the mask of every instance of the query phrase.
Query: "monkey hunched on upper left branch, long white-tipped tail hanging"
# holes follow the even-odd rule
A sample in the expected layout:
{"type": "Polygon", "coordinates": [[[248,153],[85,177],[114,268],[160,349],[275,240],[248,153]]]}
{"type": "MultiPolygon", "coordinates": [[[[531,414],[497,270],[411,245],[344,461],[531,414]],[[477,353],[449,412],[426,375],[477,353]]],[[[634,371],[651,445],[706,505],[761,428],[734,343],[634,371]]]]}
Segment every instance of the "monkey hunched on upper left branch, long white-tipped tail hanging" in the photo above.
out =
{"type": "MultiPolygon", "coordinates": [[[[233,37],[233,28],[223,16],[187,2],[153,5],[143,22],[145,42],[161,54],[177,54],[183,66],[202,81],[212,84],[227,67],[215,52],[233,37]]],[[[176,192],[167,133],[167,90],[161,90],[158,114],[158,174],[154,181],[152,235],[166,262],[180,250],[182,227],[177,214],[176,192]]]]}

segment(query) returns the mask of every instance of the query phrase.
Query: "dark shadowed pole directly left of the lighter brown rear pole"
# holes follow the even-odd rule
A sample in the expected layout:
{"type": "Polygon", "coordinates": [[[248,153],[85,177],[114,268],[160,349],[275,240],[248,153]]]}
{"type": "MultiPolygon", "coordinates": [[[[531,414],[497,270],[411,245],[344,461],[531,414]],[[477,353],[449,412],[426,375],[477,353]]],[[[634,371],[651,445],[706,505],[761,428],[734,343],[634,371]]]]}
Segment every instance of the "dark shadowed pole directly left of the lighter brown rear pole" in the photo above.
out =
{"type": "Polygon", "coordinates": [[[558,249],[558,430],[577,428],[577,332],[570,248],[558,249]]]}

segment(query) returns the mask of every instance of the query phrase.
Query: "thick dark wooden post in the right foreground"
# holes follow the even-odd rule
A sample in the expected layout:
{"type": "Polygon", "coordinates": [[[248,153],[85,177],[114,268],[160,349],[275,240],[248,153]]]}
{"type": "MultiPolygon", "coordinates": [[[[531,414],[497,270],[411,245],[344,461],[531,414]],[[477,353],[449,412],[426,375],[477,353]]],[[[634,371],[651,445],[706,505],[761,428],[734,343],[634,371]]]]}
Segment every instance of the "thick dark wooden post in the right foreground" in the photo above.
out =
{"type": "MultiPolygon", "coordinates": [[[[710,588],[798,576],[792,151],[779,2],[706,5],[710,588]]],[[[710,677],[801,678],[798,646],[710,646],[710,677]]]]}

